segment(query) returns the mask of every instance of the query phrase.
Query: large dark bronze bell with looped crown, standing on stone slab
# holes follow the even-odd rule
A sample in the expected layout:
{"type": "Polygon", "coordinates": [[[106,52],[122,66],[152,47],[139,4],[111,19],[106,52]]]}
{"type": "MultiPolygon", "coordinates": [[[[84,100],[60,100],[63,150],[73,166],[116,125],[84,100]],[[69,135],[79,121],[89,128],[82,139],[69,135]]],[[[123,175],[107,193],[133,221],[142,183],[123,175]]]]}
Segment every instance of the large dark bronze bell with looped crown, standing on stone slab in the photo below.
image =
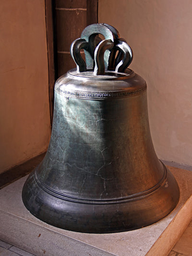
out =
{"type": "Polygon", "coordinates": [[[25,207],[77,232],[128,231],[164,218],[180,193],[156,156],[146,83],[127,69],[132,49],[114,27],[92,24],[71,54],[77,69],[55,84],[51,139],[24,184],[25,207]]]}

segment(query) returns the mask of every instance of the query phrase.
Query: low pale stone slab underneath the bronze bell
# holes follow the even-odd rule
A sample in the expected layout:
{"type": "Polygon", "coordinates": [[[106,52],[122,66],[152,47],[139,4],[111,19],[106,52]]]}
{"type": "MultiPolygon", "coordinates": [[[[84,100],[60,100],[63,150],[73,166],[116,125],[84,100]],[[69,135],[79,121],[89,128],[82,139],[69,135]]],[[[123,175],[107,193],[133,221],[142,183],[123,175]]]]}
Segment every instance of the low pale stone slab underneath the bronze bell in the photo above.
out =
{"type": "Polygon", "coordinates": [[[142,229],[88,234],[50,226],[24,207],[26,177],[0,190],[0,239],[37,256],[167,256],[192,219],[192,171],[169,167],[180,187],[178,206],[142,229]]]}

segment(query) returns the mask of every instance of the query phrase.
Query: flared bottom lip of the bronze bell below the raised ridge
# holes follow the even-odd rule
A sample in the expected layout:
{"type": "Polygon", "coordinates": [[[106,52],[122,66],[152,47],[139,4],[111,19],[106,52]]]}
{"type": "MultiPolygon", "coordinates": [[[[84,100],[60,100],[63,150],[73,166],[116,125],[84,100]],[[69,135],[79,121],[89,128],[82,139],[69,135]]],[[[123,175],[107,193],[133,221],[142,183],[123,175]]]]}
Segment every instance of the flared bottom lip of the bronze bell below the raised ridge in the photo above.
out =
{"type": "Polygon", "coordinates": [[[33,171],[24,183],[22,200],[36,218],[61,229],[85,233],[126,232],[151,225],[174,210],[180,190],[169,170],[167,181],[168,186],[165,183],[147,198],[133,202],[86,205],[57,198],[55,203],[55,197],[36,183],[33,171]]]}

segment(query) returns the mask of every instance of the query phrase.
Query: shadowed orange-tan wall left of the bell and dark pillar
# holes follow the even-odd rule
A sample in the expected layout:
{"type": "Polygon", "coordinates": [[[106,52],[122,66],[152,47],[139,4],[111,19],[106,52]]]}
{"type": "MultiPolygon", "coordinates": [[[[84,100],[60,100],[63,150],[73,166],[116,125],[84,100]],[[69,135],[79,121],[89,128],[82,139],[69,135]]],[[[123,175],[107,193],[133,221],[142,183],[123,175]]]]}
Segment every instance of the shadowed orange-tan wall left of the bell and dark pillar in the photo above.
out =
{"type": "Polygon", "coordinates": [[[0,1],[0,172],[48,146],[44,2],[0,1]]]}

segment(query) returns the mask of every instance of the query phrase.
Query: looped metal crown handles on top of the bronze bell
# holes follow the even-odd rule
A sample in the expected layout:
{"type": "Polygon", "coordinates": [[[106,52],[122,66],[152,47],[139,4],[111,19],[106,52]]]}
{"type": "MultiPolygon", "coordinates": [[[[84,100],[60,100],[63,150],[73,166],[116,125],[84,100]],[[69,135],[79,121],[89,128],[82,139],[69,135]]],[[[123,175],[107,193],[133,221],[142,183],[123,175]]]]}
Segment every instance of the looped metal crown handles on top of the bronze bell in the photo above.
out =
{"type": "Polygon", "coordinates": [[[87,26],[81,38],[72,42],[70,51],[77,64],[77,71],[94,69],[94,75],[104,74],[107,70],[124,72],[132,62],[131,47],[119,37],[119,32],[108,24],[87,26]],[[103,35],[105,40],[101,40],[98,35],[103,35]],[[86,63],[81,56],[81,49],[84,49],[86,63]]]}

